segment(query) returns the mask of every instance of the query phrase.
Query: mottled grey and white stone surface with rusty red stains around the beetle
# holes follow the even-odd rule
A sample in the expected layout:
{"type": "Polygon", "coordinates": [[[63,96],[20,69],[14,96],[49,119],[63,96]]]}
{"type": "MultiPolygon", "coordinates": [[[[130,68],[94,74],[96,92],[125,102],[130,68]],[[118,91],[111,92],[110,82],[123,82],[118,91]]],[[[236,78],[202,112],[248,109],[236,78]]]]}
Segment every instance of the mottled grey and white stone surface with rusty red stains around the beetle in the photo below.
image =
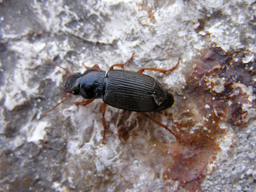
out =
{"type": "Polygon", "coordinates": [[[252,191],[256,2],[0,1],[0,191],[252,191]],[[149,115],[67,97],[68,74],[136,55],[175,98],[149,115]],[[179,140],[179,141],[178,141],[179,140]]]}

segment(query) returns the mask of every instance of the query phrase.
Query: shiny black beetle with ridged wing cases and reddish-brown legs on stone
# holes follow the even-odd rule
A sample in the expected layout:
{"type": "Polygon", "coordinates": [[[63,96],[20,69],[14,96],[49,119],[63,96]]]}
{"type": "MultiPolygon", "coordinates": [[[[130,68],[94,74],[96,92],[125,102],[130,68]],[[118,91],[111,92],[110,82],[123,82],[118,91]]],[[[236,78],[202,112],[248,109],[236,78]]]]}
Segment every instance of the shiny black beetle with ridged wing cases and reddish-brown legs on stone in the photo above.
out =
{"type": "Polygon", "coordinates": [[[86,99],[82,102],[75,102],[76,105],[84,106],[95,99],[102,99],[102,124],[104,127],[102,144],[104,144],[105,134],[108,128],[104,118],[107,105],[127,111],[139,112],[141,115],[148,117],[156,124],[167,129],[176,137],[176,139],[178,139],[177,135],[166,125],[159,123],[146,113],[151,111],[161,111],[171,107],[174,103],[174,98],[173,95],[156,79],[143,74],[143,72],[145,70],[154,70],[166,74],[166,72],[171,72],[177,68],[181,58],[179,58],[178,63],[169,70],[141,68],[137,72],[134,72],[114,69],[114,67],[121,67],[124,69],[124,65],[133,59],[134,54],[135,53],[133,53],[132,57],[125,63],[112,65],[108,72],[101,70],[96,64],[92,68],[84,66],[87,70],[83,74],[72,74],[67,69],[62,68],[47,58],[50,63],[66,70],[70,74],[65,84],[65,92],[69,93],[69,95],[51,110],[43,113],[52,111],[55,107],[67,100],[71,94],[80,95],[86,99]]]}

